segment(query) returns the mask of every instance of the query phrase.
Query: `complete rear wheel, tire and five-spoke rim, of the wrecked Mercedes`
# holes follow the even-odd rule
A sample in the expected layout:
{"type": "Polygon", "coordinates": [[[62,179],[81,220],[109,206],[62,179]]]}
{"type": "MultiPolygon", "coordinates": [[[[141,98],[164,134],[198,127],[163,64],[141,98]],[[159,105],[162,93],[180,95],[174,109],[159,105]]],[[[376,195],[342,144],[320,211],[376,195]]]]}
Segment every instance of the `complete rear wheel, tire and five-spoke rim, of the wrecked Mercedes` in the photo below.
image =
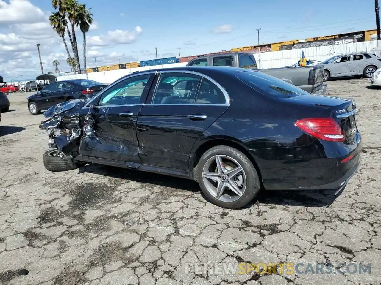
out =
{"type": "Polygon", "coordinates": [[[253,163],[229,146],[212,147],[202,155],[197,166],[197,181],[213,204],[228,209],[246,206],[260,189],[253,163]]]}

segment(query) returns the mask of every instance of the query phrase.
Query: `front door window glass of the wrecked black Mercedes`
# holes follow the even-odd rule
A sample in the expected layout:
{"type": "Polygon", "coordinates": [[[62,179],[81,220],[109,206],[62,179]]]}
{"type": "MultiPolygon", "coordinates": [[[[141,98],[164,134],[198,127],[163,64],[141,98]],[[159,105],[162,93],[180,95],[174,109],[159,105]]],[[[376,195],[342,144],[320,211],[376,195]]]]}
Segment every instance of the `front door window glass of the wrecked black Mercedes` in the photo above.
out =
{"type": "Polygon", "coordinates": [[[141,74],[118,82],[102,93],[99,106],[139,104],[150,76],[141,74]]]}

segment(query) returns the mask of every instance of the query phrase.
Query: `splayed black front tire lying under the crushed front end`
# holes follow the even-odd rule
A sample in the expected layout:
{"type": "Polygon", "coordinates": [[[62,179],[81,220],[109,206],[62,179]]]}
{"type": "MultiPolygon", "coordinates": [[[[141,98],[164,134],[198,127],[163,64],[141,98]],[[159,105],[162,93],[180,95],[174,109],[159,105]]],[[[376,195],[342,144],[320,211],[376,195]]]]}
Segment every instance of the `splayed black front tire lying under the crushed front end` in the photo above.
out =
{"type": "Polygon", "coordinates": [[[50,149],[43,155],[44,166],[49,171],[67,171],[77,169],[81,165],[77,161],[73,161],[72,155],[64,155],[64,157],[61,158],[52,155],[54,152],[58,152],[58,149],[50,149]]]}

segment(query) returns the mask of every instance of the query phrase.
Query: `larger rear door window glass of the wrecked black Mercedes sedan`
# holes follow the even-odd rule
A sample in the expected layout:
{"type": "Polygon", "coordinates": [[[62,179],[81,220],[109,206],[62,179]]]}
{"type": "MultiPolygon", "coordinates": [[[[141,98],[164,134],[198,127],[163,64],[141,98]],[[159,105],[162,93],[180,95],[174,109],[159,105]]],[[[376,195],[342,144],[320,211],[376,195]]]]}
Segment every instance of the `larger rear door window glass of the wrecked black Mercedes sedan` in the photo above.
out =
{"type": "Polygon", "coordinates": [[[200,76],[188,73],[162,73],[154,104],[193,104],[200,76]]]}

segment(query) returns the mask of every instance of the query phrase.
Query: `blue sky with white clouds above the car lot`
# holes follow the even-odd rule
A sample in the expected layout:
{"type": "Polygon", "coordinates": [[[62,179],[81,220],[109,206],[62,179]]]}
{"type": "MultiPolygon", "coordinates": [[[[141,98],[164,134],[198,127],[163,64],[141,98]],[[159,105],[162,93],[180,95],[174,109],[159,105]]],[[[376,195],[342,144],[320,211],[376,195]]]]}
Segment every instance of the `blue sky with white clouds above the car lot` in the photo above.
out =
{"type": "MultiPolygon", "coordinates": [[[[158,57],[178,57],[178,47],[181,56],[189,56],[251,46],[258,44],[256,28],[261,28],[259,38],[262,44],[262,33],[264,43],[272,43],[374,29],[376,26],[373,0],[79,2],[91,8],[95,21],[88,33],[88,67],[94,66],[93,57],[97,57],[98,66],[116,64],[119,60],[128,62],[154,59],[155,47],[158,57]]],[[[47,70],[51,69],[53,58],[58,58],[62,69],[68,70],[69,67],[64,67],[66,52],[62,41],[53,34],[47,24],[47,17],[52,11],[49,0],[0,0],[0,46],[10,46],[18,41],[27,46],[39,41],[42,44],[43,64],[47,66],[47,70]],[[20,15],[19,18],[9,16],[5,19],[6,15],[11,13],[5,11],[6,6],[9,11],[17,11],[15,13],[20,15]],[[27,21],[28,17],[30,19],[27,21]],[[12,33],[14,38],[10,41],[12,33]]],[[[77,38],[79,48],[82,49],[80,31],[77,38]]],[[[69,41],[67,43],[69,44],[69,41]]],[[[7,47],[3,51],[0,47],[2,57],[10,50],[14,52],[8,53],[9,60],[14,60],[12,57],[15,57],[22,62],[21,59],[31,57],[33,65],[30,68],[33,68],[34,73],[38,73],[38,65],[36,68],[34,63],[39,62],[33,45],[24,50],[21,44],[16,49],[7,47]]],[[[7,65],[4,57],[0,59],[0,63],[0,66],[7,65]]],[[[8,62],[9,66],[14,67],[13,70],[19,73],[14,62],[8,62]]],[[[12,73],[13,70],[0,67],[0,72],[12,73]]]]}

